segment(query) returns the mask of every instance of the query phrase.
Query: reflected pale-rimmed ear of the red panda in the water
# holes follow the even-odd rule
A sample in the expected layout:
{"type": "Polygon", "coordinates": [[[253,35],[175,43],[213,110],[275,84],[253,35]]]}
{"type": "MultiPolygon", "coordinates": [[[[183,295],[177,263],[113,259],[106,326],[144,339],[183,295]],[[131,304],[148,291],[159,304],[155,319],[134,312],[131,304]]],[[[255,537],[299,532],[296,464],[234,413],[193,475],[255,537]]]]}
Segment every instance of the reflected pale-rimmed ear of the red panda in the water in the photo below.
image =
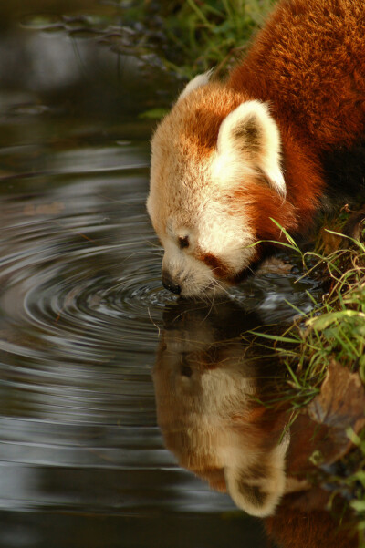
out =
{"type": "Polygon", "coordinates": [[[227,491],[235,504],[250,515],[266,517],[275,512],[285,491],[285,439],[268,455],[259,455],[251,465],[237,462],[224,469],[227,491]]]}

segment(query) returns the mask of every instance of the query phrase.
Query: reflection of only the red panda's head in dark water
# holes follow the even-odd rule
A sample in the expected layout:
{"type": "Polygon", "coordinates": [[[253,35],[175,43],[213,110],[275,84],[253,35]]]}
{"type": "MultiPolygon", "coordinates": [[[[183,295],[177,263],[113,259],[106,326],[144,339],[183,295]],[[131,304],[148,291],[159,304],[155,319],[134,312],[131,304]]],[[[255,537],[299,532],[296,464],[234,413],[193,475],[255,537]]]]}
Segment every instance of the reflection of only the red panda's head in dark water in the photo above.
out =
{"type": "Polygon", "coordinates": [[[205,318],[204,308],[178,311],[166,319],[154,372],[167,445],[245,512],[270,514],[285,490],[288,439],[280,440],[283,418],[255,401],[270,373],[239,338],[255,315],[230,303],[205,318]]]}

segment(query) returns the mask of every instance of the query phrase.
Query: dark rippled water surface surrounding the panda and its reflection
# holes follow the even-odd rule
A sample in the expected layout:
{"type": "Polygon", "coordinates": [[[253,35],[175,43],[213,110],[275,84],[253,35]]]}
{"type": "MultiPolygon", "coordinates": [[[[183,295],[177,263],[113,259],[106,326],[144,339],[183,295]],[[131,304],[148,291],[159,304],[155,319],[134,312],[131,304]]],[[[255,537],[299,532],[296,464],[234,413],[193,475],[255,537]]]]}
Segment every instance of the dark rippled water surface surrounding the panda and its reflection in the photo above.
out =
{"type": "MultiPolygon", "coordinates": [[[[65,48],[64,36],[42,39],[65,48]]],[[[179,305],[145,212],[139,87],[123,84],[113,117],[98,78],[78,74],[59,98],[56,77],[34,78],[0,95],[0,546],[266,546],[261,523],[180,468],[157,426],[151,371],[179,305]]],[[[310,307],[310,285],[294,282],[253,280],[227,314],[239,329],[287,321],[286,299],[310,307]]],[[[203,341],[209,312],[197,316],[203,341]]]]}

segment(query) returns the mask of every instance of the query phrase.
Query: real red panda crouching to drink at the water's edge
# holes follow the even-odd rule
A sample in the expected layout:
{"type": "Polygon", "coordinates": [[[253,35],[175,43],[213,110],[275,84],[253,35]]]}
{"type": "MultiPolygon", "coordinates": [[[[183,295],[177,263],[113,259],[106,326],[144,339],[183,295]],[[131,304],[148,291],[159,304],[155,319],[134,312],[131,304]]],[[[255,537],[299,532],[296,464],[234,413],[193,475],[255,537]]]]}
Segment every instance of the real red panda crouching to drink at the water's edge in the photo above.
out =
{"type": "Polygon", "coordinates": [[[214,295],[271,241],[364,192],[365,3],[281,0],[224,82],[194,78],[151,142],[162,284],[214,295]],[[263,242],[266,241],[266,242],[263,242]]]}

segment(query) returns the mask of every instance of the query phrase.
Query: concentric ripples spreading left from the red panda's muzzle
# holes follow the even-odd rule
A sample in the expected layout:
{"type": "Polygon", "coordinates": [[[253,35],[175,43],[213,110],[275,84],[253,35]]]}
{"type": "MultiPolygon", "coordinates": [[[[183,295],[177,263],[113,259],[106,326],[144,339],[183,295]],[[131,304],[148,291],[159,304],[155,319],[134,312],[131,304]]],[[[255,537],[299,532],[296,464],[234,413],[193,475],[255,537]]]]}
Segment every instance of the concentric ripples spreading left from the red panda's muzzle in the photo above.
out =
{"type": "Polygon", "coordinates": [[[77,182],[41,198],[18,196],[16,208],[7,198],[14,212],[3,229],[0,305],[25,342],[38,337],[40,352],[47,342],[59,352],[88,347],[88,359],[110,354],[110,345],[135,353],[156,344],[156,312],[174,297],[160,283],[146,181],[147,173],[124,194],[120,181],[77,182]]]}

